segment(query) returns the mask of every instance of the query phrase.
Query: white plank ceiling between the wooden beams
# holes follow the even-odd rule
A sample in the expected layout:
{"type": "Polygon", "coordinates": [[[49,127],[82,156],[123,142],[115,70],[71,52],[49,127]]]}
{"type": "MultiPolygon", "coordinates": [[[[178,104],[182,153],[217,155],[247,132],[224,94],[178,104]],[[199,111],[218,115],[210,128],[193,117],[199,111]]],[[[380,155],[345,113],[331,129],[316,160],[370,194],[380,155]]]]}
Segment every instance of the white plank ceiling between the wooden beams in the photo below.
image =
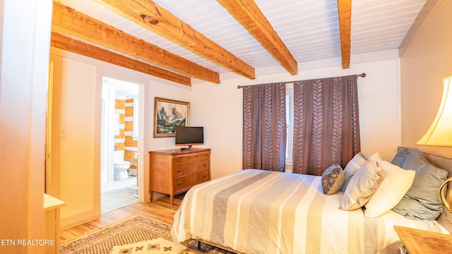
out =
{"type": "MultiPolygon", "coordinates": [[[[254,68],[278,67],[254,37],[249,35],[215,0],[154,0],[198,32],[206,35],[254,68]]],[[[352,54],[398,49],[427,0],[352,0],[352,54]]],[[[225,68],[201,58],[174,42],[145,30],[105,7],[100,0],[61,0],[97,20],[182,56],[218,73],[225,68]]],[[[255,0],[297,63],[340,58],[336,0],[255,0]]],[[[52,28],[53,29],[53,28],[52,28]]],[[[61,33],[64,31],[54,30],[61,33]]]]}

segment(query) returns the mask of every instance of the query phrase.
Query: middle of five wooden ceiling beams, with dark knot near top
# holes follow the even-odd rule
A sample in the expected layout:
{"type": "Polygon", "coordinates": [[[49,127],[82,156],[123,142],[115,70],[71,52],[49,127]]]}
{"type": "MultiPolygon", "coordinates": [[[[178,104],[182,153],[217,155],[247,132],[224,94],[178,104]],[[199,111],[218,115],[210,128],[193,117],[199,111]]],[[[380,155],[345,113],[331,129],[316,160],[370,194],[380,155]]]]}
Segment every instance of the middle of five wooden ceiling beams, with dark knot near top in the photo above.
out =
{"type": "MultiPolygon", "coordinates": [[[[254,68],[150,0],[102,0],[143,28],[228,70],[254,79],[254,68]]],[[[108,7],[108,6],[107,6],[108,7]]]]}

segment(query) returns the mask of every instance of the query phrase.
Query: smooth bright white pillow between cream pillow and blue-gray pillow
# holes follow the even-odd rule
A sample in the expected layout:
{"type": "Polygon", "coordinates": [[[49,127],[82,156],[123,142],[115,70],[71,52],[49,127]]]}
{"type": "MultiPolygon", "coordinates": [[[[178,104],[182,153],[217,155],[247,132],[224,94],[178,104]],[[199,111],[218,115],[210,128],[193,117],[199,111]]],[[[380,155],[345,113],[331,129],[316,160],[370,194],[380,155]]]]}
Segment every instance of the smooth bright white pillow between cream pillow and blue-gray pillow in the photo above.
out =
{"type": "Polygon", "coordinates": [[[380,162],[379,167],[384,171],[384,179],[366,204],[364,211],[366,217],[379,217],[393,209],[402,200],[415,179],[414,170],[401,169],[386,161],[380,162]]]}

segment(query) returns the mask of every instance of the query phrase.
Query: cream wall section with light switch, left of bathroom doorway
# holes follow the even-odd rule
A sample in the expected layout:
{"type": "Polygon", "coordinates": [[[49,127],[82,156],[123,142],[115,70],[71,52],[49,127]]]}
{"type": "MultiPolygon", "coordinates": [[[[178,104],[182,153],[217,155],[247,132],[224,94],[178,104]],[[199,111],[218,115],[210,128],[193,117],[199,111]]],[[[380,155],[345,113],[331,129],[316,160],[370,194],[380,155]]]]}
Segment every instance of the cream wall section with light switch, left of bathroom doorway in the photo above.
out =
{"type": "Polygon", "coordinates": [[[62,59],[61,68],[61,125],[54,127],[59,128],[59,198],[66,202],[61,207],[61,224],[66,225],[95,217],[96,67],[62,59]]]}

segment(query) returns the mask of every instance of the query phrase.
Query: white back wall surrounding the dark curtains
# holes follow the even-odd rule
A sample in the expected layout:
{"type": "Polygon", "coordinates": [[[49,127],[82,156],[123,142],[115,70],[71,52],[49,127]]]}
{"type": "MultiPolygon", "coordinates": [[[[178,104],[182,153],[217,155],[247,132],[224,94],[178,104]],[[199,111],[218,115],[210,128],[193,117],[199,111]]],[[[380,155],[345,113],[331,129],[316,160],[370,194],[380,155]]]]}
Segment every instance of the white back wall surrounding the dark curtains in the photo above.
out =
{"type": "Polygon", "coordinates": [[[326,67],[305,69],[298,75],[260,75],[256,80],[237,78],[220,85],[193,85],[192,125],[206,129],[206,147],[211,152],[213,179],[242,170],[242,89],[237,85],[256,85],[280,81],[309,80],[366,73],[358,78],[359,123],[364,155],[379,152],[391,160],[400,140],[398,59],[352,64],[350,69],[326,67]]]}

